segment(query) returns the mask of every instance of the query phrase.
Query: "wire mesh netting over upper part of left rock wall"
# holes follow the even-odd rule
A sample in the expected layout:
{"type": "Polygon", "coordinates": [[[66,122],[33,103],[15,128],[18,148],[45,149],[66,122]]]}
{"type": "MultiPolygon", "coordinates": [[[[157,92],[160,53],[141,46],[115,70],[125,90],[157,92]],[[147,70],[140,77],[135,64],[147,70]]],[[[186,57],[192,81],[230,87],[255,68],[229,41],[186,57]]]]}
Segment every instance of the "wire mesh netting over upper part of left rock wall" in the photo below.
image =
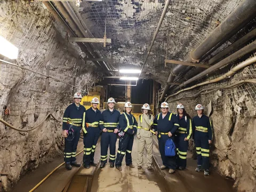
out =
{"type": "MultiPolygon", "coordinates": [[[[0,36],[19,49],[18,59],[12,60],[12,63],[45,75],[46,66],[49,65],[50,76],[69,84],[73,84],[75,74],[76,77],[81,77],[76,81],[79,87],[91,82],[86,81],[90,74],[82,74],[83,70],[78,66],[76,58],[59,46],[57,36],[60,33],[56,29],[61,31],[62,27],[54,21],[42,2],[26,6],[26,1],[12,0],[2,1],[0,6],[0,36]]],[[[4,60],[9,61],[7,58],[4,60]]],[[[23,127],[31,127],[34,126],[34,121],[26,124],[18,121],[17,116],[31,116],[34,119],[34,114],[44,115],[61,108],[57,98],[70,98],[72,87],[51,78],[49,83],[49,91],[46,92],[45,76],[0,62],[0,117],[6,119],[8,116],[9,122],[15,120],[13,122],[17,123],[17,127],[21,123],[23,127]],[[66,92],[59,95],[63,90],[66,92]],[[6,109],[10,113],[4,115],[6,109]]],[[[1,123],[0,136],[7,130],[1,123]]]]}

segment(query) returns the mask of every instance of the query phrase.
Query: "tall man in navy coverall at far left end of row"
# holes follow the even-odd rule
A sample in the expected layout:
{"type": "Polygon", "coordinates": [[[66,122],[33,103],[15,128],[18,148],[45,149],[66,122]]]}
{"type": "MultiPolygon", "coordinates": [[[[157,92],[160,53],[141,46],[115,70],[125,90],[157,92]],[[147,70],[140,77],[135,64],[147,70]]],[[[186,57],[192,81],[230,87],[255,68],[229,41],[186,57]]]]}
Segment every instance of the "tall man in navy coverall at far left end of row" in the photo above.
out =
{"type": "Polygon", "coordinates": [[[73,98],[74,102],[65,110],[62,121],[63,136],[65,137],[64,161],[67,170],[72,169],[71,165],[81,166],[76,162],[76,149],[81,127],[84,130],[85,126],[85,107],[80,105],[82,95],[77,92],[73,98]]]}

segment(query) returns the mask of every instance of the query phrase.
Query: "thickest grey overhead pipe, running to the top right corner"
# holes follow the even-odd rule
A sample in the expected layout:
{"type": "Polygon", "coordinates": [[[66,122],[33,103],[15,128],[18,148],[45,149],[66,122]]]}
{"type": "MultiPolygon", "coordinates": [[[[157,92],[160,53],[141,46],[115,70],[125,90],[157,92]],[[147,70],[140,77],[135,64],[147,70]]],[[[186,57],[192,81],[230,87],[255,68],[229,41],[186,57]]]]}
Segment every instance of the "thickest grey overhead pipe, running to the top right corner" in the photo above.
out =
{"type": "MultiPolygon", "coordinates": [[[[222,23],[220,23],[220,25],[216,27],[200,45],[196,47],[196,49],[190,52],[185,61],[199,61],[203,55],[212,50],[213,47],[217,48],[216,45],[218,45],[219,42],[226,42],[238,30],[243,28],[244,25],[246,25],[251,19],[255,18],[255,7],[255,0],[244,0],[242,3],[240,3],[236,9],[231,12],[228,17],[222,23]]],[[[167,79],[167,83],[172,83],[175,76],[186,68],[187,66],[183,65],[178,65],[177,67],[173,68],[170,76],[167,79]]],[[[167,83],[161,95],[161,101],[164,100],[165,94],[169,90],[170,85],[167,83]]]]}

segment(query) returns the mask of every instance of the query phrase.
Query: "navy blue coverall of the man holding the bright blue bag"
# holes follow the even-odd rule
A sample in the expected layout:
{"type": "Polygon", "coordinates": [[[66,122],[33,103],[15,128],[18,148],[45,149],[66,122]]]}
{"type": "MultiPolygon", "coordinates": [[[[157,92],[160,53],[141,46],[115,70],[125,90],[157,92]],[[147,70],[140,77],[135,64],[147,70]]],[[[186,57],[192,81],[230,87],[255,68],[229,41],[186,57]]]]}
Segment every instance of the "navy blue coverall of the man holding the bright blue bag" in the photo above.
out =
{"type": "Polygon", "coordinates": [[[165,156],[165,142],[167,139],[172,139],[175,142],[175,132],[179,127],[177,117],[168,112],[163,118],[162,113],[159,113],[154,119],[154,129],[158,132],[158,146],[163,161],[163,165],[169,169],[175,170],[176,159],[175,156],[165,156]],[[172,137],[168,136],[168,132],[172,133],[172,137]]]}

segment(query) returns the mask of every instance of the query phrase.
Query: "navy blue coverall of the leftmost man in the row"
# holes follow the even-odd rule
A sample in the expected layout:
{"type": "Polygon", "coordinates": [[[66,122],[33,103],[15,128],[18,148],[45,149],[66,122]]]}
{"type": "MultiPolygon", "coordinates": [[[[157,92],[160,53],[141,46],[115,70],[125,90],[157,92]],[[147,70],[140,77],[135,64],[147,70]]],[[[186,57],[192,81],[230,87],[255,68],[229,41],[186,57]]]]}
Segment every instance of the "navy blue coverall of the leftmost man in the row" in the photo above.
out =
{"type": "Polygon", "coordinates": [[[77,143],[80,138],[80,131],[84,115],[85,107],[82,105],[79,105],[79,107],[77,107],[75,103],[69,105],[64,112],[62,130],[74,130],[74,139],[70,138],[72,137],[71,135],[68,135],[68,137],[65,138],[64,161],[66,163],[76,161],[77,143]]]}

